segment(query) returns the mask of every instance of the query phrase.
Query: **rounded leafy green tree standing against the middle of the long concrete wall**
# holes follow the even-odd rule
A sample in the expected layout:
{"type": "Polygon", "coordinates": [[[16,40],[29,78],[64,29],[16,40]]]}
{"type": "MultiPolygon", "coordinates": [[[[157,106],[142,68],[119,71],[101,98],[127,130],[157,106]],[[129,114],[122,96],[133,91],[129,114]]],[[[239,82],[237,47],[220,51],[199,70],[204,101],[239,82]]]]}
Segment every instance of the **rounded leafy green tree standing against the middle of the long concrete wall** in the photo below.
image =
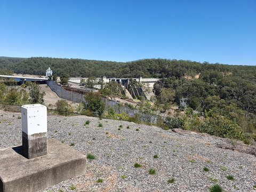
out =
{"type": "Polygon", "coordinates": [[[85,95],[85,100],[85,108],[92,111],[94,115],[102,117],[105,111],[105,103],[102,101],[100,94],[90,92],[85,95]]]}

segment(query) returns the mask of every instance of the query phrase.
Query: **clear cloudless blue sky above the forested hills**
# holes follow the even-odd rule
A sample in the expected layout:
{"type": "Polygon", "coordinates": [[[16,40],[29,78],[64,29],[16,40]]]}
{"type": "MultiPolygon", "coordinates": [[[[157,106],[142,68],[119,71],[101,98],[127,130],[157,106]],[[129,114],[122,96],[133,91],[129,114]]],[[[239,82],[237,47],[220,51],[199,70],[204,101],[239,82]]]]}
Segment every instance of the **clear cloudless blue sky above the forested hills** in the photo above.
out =
{"type": "Polygon", "coordinates": [[[0,56],[256,65],[256,0],[0,0],[0,56]]]}

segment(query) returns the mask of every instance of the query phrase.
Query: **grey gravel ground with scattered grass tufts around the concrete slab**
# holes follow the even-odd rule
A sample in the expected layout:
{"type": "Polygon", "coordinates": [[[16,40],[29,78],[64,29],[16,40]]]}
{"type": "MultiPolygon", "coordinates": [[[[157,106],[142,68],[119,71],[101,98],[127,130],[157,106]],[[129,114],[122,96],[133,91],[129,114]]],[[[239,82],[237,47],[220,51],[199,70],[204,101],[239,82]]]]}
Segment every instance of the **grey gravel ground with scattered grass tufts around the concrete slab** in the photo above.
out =
{"type": "MultiPolygon", "coordinates": [[[[19,116],[0,111],[0,148],[21,145],[19,116]]],[[[226,139],[179,134],[132,122],[53,115],[48,116],[48,137],[67,145],[74,143],[73,148],[96,159],[87,161],[85,175],[41,192],[209,191],[215,183],[224,191],[256,191],[256,157],[216,146],[228,142],[226,139]],[[84,125],[87,120],[90,124],[84,125]],[[135,168],[135,163],[141,167],[135,168]],[[204,171],[204,167],[210,171],[204,171]],[[156,174],[149,174],[150,168],[156,174]],[[234,180],[228,180],[227,175],[233,175],[234,180]],[[98,183],[99,178],[103,182],[98,183]],[[174,183],[169,183],[172,178],[174,183]]]]}

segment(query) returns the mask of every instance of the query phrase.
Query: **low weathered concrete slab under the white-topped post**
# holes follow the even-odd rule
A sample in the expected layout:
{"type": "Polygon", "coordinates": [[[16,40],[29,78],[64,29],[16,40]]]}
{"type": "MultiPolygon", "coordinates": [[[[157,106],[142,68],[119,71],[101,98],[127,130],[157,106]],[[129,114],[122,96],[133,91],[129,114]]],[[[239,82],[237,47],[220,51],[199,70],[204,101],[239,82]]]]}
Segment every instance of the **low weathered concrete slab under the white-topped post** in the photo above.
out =
{"type": "Polygon", "coordinates": [[[27,159],[22,146],[0,149],[0,192],[34,192],[86,172],[86,156],[48,139],[48,154],[27,159]]]}

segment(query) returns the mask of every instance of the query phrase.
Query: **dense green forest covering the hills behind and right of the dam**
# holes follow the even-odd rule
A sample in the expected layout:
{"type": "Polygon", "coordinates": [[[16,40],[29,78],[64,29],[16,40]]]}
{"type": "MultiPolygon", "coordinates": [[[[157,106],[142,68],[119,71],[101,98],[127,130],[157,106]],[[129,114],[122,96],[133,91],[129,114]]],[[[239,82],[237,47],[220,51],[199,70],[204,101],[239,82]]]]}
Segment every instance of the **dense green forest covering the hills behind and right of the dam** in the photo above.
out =
{"type": "MultiPolygon", "coordinates": [[[[213,125],[226,127],[226,130],[238,127],[243,132],[256,131],[256,66],[167,59],[113,62],[41,57],[0,58],[2,74],[44,75],[48,67],[58,76],[160,78],[154,86],[156,102],[152,110],[158,110],[159,106],[168,109],[171,105],[179,105],[183,97],[188,98],[187,105],[191,110],[204,114],[204,123],[198,124],[197,117],[191,116],[188,125],[180,121],[179,126],[194,126],[199,131],[207,127],[211,130],[213,125]]],[[[173,121],[170,124],[173,126],[173,121]]]]}

